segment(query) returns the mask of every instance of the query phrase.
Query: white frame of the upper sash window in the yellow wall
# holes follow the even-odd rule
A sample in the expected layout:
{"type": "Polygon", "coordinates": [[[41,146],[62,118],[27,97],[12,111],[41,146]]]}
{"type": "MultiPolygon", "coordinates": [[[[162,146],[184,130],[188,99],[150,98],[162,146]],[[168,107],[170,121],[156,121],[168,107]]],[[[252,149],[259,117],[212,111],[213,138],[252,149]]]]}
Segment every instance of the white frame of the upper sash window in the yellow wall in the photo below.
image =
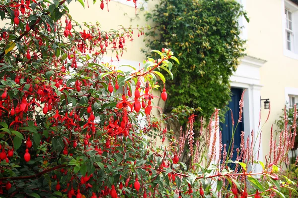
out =
{"type": "Polygon", "coordinates": [[[282,0],[282,31],[284,55],[298,60],[298,5],[290,0],[282,0]],[[289,18],[289,12],[292,20],[289,18]],[[292,22],[292,29],[290,28],[292,22]],[[288,36],[290,34],[290,37],[288,36]]]}

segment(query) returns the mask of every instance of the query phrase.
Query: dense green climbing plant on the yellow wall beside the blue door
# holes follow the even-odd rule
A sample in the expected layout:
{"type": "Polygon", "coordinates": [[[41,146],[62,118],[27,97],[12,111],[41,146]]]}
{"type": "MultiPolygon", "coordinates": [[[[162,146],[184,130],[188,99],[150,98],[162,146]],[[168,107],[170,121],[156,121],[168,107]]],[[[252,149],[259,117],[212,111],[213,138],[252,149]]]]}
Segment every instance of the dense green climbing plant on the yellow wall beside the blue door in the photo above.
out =
{"type": "Polygon", "coordinates": [[[224,114],[230,100],[229,78],[245,50],[238,24],[242,15],[248,21],[235,0],[160,0],[146,14],[155,24],[146,33],[147,47],[172,49],[181,61],[166,82],[165,112],[187,105],[201,107],[199,117],[210,117],[215,107],[224,114]]]}

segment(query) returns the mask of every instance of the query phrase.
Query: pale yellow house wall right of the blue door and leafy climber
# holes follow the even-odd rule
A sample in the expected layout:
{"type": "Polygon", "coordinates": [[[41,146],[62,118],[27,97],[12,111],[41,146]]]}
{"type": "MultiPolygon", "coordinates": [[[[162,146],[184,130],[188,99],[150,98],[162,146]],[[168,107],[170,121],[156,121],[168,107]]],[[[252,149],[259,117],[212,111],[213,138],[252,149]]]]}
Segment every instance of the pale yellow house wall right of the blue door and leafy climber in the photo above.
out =
{"type": "MultiPolygon", "coordinates": [[[[285,87],[298,88],[298,60],[284,55],[282,0],[247,0],[248,23],[247,54],[267,60],[261,69],[261,97],[270,99],[271,113],[263,127],[263,155],[269,153],[271,125],[282,114],[286,103],[285,87]]],[[[262,123],[269,110],[262,103],[262,123]]],[[[273,130],[276,130],[274,125],[273,130]]]]}

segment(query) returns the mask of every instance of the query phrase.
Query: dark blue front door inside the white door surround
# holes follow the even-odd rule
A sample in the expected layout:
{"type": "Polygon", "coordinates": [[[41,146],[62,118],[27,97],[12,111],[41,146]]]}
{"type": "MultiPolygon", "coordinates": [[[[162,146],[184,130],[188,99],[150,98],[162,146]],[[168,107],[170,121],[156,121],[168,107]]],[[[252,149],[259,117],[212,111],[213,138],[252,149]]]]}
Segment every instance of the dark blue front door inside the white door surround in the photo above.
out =
{"type": "MultiPolygon", "coordinates": [[[[231,111],[233,111],[233,118],[234,118],[234,130],[237,125],[238,119],[239,119],[239,101],[241,99],[243,90],[238,88],[231,88],[231,101],[228,103],[229,110],[225,113],[225,123],[221,123],[221,129],[222,129],[222,142],[223,145],[226,144],[226,151],[228,151],[229,145],[232,144],[232,120],[231,120],[231,111]]],[[[239,122],[235,134],[234,134],[234,148],[233,148],[233,157],[232,160],[236,160],[236,148],[240,147],[240,134],[241,131],[244,130],[243,127],[243,114],[242,114],[242,122],[239,122]]]]}

